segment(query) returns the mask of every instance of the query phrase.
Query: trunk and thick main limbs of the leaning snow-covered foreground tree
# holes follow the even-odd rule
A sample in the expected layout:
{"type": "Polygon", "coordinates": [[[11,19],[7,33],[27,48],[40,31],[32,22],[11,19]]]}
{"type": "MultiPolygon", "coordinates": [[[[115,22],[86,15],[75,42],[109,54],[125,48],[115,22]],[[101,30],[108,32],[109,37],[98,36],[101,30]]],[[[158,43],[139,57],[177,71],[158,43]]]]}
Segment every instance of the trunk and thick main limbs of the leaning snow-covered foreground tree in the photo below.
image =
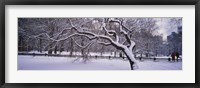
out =
{"type": "MultiPolygon", "coordinates": [[[[91,40],[91,42],[89,42],[85,47],[90,46],[93,43],[93,40],[97,40],[97,43],[105,45],[105,46],[112,45],[116,49],[124,52],[124,54],[126,55],[130,63],[131,70],[138,68],[137,60],[135,59],[134,54],[133,54],[133,49],[135,48],[135,42],[130,39],[130,35],[128,33],[130,30],[124,26],[123,20],[111,19],[111,18],[103,19],[103,21],[101,22],[100,30],[105,32],[104,35],[95,34],[89,31],[81,31],[81,29],[74,26],[72,22],[71,24],[72,24],[72,29],[76,30],[76,33],[74,35],[82,35],[91,40]],[[107,29],[108,25],[113,24],[113,23],[115,23],[116,26],[119,26],[119,28],[114,29],[114,30],[107,29]],[[124,36],[125,41],[120,42],[120,38],[119,38],[120,36],[124,36]],[[125,44],[125,42],[127,42],[127,44],[125,44]]],[[[67,39],[67,38],[64,38],[64,39],[67,39]]]]}

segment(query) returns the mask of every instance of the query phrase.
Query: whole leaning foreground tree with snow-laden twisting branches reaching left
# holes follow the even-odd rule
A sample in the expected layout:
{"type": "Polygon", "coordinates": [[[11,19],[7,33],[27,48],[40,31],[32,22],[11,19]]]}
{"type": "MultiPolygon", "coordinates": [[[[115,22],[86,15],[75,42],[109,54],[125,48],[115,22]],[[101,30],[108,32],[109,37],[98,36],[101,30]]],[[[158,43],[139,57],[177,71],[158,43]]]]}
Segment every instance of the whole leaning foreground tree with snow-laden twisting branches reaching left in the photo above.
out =
{"type": "MultiPolygon", "coordinates": [[[[78,45],[81,48],[88,48],[95,42],[98,44],[102,44],[104,46],[112,45],[116,49],[124,52],[128,61],[130,62],[130,66],[132,70],[138,68],[137,60],[135,59],[134,54],[133,54],[133,49],[135,48],[135,42],[131,40],[130,33],[129,33],[130,29],[124,26],[123,20],[115,19],[115,18],[103,18],[101,20],[96,20],[99,23],[99,27],[95,26],[96,29],[99,29],[98,31],[101,31],[101,32],[103,31],[102,33],[99,33],[99,34],[88,31],[88,30],[91,30],[92,25],[90,25],[89,27],[83,27],[85,24],[87,24],[87,22],[80,22],[80,19],[73,19],[73,18],[69,18],[67,20],[68,20],[68,23],[70,23],[70,30],[75,31],[74,33],[72,34],[52,33],[52,31],[54,30],[49,30],[48,32],[39,34],[43,38],[46,37],[46,39],[51,41],[50,44],[53,44],[53,45],[51,45],[50,48],[55,48],[61,41],[68,40],[72,37],[84,36],[90,41],[84,45],[84,44],[78,44],[75,40],[76,45],[78,45]],[[111,26],[117,26],[117,29],[112,29],[111,26]],[[124,37],[123,41],[121,41],[122,37],[124,37]]],[[[50,27],[48,29],[55,29],[57,26],[54,26],[54,24],[51,24],[51,26],[49,25],[48,27],[50,27]]],[[[64,30],[68,30],[68,29],[63,29],[62,31],[64,30]]]]}

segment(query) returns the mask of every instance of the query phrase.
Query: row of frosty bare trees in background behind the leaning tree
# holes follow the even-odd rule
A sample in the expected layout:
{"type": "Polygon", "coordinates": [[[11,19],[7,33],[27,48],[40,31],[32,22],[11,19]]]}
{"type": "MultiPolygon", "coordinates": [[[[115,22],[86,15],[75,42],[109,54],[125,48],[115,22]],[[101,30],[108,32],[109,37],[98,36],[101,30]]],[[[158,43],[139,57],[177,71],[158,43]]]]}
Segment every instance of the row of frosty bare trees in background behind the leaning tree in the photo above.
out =
{"type": "MultiPolygon", "coordinates": [[[[106,19],[117,19],[123,23],[125,28],[129,29],[130,39],[136,44],[134,48],[135,56],[157,56],[169,55],[172,51],[182,53],[182,19],[166,18],[169,28],[176,30],[181,27],[181,31],[173,32],[168,36],[167,41],[163,40],[162,34],[157,33],[159,26],[158,20],[154,18],[18,18],[18,51],[47,51],[48,54],[60,54],[69,52],[81,52],[87,56],[89,52],[119,54],[122,52],[112,45],[103,45],[98,41],[108,42],[107,40],[94,40],[88,48],[87,44],[91,41],[86,36],[74,36],[67,40],[59,42],[51,41],[52,39],[62,39],[66,36],[76,33],[71,30],[73,24],[82,31],[89,31],[99,35],[106,35],[102,31],[102,22],[106,23],[106,28],[115,30],[119,34],[119,42],[128,44],[126,37],[120,34],[120,25],[115,21],[107,21],[106,19]],[[45,33],[48,35],[45,35],[45,33]],[[86,46],[86,47],[82,47],[86,46]]],[[[111,36],[112,38],[112,36],[111,36]]]]}

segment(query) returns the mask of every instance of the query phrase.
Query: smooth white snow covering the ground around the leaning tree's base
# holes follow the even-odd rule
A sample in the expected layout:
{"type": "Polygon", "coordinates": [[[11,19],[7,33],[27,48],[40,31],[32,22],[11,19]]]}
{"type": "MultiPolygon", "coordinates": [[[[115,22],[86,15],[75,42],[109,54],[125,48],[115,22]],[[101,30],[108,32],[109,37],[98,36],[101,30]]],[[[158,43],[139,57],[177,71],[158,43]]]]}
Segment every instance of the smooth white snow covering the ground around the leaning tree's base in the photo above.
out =
{"type": "MultiPolygon", "coordinates": [[[[167,60],[139,61],[137,70],[182,70],[182,62],[167,60]]],[[[18,55],[18,70],[130,70],[127,60],[90,59],[83,63],[76,57],[48,57],[18,55]],[[74,61],[76,60],[76,61],[74,61]]]]}

